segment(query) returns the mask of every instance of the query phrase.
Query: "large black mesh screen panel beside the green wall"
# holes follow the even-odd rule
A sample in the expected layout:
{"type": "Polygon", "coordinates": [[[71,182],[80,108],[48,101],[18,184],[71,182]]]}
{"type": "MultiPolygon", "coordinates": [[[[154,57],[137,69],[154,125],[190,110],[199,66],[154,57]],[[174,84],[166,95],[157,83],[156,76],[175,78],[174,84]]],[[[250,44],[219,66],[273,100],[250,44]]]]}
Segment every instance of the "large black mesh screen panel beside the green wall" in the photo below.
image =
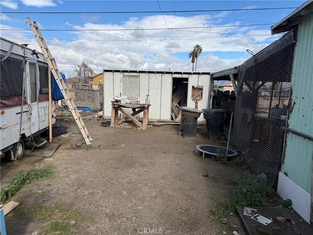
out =
{"type": "Polygon", "coordinates": [[[234,144],[248,166],[275,186],[281,166],[293,58],[293,32],[239,69],[234,144]]]}

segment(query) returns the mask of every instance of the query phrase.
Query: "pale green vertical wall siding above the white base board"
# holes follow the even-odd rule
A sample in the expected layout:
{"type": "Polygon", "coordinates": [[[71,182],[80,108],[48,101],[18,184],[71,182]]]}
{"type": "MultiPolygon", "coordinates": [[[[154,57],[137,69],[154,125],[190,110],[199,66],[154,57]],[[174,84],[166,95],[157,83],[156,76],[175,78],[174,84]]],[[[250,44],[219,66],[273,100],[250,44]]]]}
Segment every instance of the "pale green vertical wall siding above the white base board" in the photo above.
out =
{"type": "MultiPolygon", "coordinates": [[[[288,127],[313,136],[313,16],[302,19],[291,74],[291,106],[288,127]]],[[[283,173],[296,184],[311,191],[313,141],[287,133],[283,173]]]]}

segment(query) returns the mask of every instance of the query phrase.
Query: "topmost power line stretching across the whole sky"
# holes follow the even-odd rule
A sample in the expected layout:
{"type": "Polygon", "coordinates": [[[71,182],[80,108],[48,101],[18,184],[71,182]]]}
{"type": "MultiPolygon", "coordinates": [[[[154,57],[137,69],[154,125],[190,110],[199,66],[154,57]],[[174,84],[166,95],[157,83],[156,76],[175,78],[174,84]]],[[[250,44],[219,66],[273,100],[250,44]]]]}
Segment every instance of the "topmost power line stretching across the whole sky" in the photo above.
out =
{"type": "Polygon", "coordinates": [[[188,10],[188,11],[64,11],[64,12],[38,12],[38,11],[2,11],[3,14],[132,14],[132,13],[184,13],[184,12],[219,12],[219,11],[256,11],[256,10],[284,10],[296,9],[297,7],[272,7],[272,8],[253,8],[253,9],[220,9],[220,10],[188,10]]]}

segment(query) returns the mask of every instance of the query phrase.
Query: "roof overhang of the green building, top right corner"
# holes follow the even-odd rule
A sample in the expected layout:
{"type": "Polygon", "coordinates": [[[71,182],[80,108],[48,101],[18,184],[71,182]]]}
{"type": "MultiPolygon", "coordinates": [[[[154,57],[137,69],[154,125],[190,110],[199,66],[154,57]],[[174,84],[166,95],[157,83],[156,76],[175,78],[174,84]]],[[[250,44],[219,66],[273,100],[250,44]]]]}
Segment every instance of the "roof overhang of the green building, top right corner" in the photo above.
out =
{"type": "Polygon", "coordinates": [[[291,12],[288,16],[282,19],[277,24],[270,27],[271,34],[287,32],[295,25],[300,24],[300,17],[313,14],[313,1],[309,0],[291,12]]]}

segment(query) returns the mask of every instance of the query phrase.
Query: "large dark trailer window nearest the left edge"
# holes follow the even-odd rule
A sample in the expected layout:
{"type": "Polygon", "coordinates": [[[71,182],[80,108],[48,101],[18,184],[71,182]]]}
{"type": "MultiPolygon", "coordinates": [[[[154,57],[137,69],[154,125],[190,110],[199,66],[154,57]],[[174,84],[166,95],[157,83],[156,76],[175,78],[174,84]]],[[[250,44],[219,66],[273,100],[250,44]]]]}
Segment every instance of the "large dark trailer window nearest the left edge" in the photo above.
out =
{"type": "MultiPolygon", "coordinates": [[[[1,59],[4,56],[1,55],[1,59]]],[[[7,58],[0,62],[0,97],[1,99],[21,97],[23,84],[22,60],[7,58]]]]}

